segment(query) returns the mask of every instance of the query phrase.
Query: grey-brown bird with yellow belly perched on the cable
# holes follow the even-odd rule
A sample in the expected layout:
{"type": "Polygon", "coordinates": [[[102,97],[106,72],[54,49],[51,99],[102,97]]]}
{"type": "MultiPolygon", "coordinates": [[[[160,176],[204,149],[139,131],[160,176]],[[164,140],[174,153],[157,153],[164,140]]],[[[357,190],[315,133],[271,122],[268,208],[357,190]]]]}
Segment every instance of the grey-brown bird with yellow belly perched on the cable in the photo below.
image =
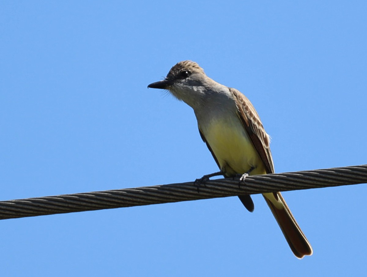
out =
{"type": "MultiPolygon", "coordinates": [[[[214,81],[189,60],[172,66],[166,78],[148,88],[168,90],[193,108],[200,136],[220,169],[199,181],[215,175],[241,176],[244,181],[248,175],[275,173],[270,136],[250,100],[239,90],[214,81]]],[[[280,192],[262,195],[294,255],[299,259],[312,255],[310,243],[280,192]]],[[[248,211],[254,210],[250,195],[239,198],[248,211]]]]}

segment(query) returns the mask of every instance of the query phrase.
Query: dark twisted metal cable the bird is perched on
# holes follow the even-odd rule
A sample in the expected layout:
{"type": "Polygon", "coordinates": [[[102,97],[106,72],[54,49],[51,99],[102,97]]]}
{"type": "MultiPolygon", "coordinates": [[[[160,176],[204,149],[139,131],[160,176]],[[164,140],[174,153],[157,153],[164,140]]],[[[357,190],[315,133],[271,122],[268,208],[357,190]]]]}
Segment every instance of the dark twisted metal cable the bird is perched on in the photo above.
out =
{"type": "Polygon", "coordinates": [[[367,183],[367,165],[0,201],[0,219],[367,183]]]}

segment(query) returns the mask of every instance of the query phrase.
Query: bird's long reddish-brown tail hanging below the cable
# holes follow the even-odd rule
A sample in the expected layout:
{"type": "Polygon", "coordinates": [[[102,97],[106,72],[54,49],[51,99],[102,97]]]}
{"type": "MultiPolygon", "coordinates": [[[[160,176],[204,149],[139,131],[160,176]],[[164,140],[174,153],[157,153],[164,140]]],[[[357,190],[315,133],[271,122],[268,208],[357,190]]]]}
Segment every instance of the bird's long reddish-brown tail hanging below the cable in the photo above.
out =
{"type": "Polygon", "coordinates": [[[299,228],[281,194],[279,192],[264,193],[263,196],[294,255],[299,259],[302,259],[305,255],[312,255],[310,243],[301,228],[299,228]]]}

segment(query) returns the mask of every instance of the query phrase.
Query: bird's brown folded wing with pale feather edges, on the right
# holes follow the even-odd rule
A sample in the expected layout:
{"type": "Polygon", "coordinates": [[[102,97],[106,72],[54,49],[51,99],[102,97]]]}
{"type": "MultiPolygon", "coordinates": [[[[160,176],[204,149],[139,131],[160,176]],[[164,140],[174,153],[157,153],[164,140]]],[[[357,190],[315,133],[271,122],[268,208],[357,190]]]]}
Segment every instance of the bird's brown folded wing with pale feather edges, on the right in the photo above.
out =
{"type": "Polygon", "coordinates": [[[270,138],[265,132],[264,126],[262,126],[259,115],[246,96],[236,89],[229,88],[229,90],[236,101],[237,115],[264,163],[266,173],[274,173],[273,158],[270,152],[270,138]]]}

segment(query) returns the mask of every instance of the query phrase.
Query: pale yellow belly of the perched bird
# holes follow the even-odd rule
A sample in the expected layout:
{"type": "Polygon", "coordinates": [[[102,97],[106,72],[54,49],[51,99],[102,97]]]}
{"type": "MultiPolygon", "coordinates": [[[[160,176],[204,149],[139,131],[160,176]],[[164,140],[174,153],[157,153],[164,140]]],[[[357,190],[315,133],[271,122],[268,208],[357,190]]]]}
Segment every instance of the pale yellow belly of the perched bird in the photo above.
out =
{"type": "Polygon", "coordinates": [[[204,136],[226,176],[243,174],[251,167],[255,168],[251,175],[266,173],[240,120],[211,122],[204,136]]]}

